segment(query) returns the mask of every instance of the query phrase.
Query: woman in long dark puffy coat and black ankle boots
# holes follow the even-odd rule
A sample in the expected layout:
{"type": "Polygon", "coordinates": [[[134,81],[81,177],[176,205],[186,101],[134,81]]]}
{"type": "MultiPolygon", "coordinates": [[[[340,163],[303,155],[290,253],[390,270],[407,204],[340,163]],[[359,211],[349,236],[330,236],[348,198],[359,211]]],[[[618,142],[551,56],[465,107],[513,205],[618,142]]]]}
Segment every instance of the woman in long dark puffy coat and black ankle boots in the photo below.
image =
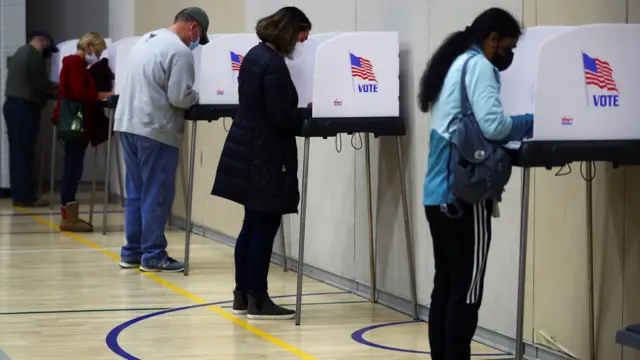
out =
{"type": "MultiPolygon", "coordinates": [[[[261,42],[244,57],[238,78],[240,108],[231,125],[213,185],[216,195],[244,206],[235,248],[233,313],[249,319],[291,319],[267,292],[273,242],[283,214],[298,212],[298,150],[304,112],[285,58],[304,42],[311,22],[284,7],[260,19],[261,42]]],[[[310,104],[309,104],[310,106],[310,104]]]]}

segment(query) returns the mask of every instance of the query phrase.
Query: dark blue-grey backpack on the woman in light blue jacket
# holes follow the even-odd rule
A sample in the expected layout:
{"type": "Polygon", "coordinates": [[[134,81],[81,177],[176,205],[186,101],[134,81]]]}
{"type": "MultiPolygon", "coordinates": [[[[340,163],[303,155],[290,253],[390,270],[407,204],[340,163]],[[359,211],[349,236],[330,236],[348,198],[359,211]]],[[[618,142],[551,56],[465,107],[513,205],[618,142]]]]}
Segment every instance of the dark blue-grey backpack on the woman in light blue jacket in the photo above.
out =
{"type": "Polygon", "coordinates": [[[465,77],[467,64],[475,55],[469,56],[462,66],[460,76],[461,114],[456,116],[449,127],[455,125],[450,138],[449,174],[453,177],[449,184],[455,197],[457,214],[453,215],[443,205],[443,211],[452,217],[462,216],[462,200],[469,204],[478,204],[485,200],[500,201],[505,185],[511,177],[511,159],[505,151],[504,143],[488,140],[484,137],[478,120],[471,109],[465,77]]]}

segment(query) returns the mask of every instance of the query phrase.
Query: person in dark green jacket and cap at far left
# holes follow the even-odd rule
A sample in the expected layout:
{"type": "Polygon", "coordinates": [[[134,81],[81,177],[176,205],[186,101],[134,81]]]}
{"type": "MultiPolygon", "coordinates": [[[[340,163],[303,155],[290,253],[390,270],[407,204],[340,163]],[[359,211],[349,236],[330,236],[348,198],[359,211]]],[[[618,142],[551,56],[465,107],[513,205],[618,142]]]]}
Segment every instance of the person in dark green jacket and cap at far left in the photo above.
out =
{"type": "Polygon", "coordinates": [[[58,52],[46,31],[35,31],[29,42],[11,57],[3,106],[9,138],[9,173],[14,206],[48,206],[37,199],[32,174],[33,157],[40,132],[40,112],[56,84],[49,81],[45,59],[58,52]]]}

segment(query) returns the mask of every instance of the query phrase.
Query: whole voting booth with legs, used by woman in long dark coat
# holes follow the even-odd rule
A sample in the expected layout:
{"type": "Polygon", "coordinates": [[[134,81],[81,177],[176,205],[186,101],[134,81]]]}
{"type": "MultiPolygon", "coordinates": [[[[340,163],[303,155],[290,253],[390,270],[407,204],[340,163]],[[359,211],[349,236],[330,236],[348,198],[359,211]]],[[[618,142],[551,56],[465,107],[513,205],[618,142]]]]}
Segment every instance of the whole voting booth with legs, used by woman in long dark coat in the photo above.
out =
{"type": "Polygon", "coordinates": [[[288,61],[292,80],[298,91],[300,107],[313,103],[311,116],[302,127],[304,158],[298,248],[296,325],[302,314],[302,276],[304,267],[307,184],[311,138],[329,138],[340,134],[365,134],[365,161],[368,189],[368,225],[371,269],[371,301],[375,302],[376,279],[371,199],[371,162],[369,135],[395,136],[398,168],[407,240],[407,260],[411,278],[414,317],[417,318],[417,295],[413,263],[413,242],[400,154],[400,136],[406,134],[400,118],[399,40],[397,32],[331,33],[311,36],[296,49],[288,61]]]}

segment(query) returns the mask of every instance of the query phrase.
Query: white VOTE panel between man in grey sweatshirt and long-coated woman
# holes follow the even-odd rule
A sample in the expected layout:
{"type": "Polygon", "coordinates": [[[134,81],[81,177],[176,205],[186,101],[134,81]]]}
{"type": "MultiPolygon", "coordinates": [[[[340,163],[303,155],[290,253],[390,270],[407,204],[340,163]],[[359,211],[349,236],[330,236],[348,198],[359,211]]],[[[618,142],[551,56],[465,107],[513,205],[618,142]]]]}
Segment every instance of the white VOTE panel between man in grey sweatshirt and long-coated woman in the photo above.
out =
{"type": "Polygon", "coordinates": [[[259,42],[255,34],[225,34],[202,47],[200,104],[238,104],[240,65],[247,52],[259,42]]]}

